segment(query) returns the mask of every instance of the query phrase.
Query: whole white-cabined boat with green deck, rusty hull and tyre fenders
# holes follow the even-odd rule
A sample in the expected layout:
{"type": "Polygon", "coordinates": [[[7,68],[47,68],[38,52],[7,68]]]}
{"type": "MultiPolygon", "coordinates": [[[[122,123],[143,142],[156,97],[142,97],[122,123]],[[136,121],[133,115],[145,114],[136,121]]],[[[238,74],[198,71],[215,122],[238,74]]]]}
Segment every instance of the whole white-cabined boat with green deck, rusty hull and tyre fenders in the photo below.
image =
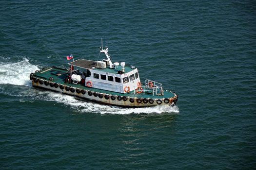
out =
{"type": "Polygon", "coordinates": [[[125,62],[112,63],[108,47],[100,53],[106,55],[102,61],[74,60],[67,68],[50,67],[30,74],[33,87],[56,91],[78,98],[119,107],[174,106],[178,95],[164,90],[161,83],[145,80],[141,83],[138,68],[126,66],[125,62]]]}

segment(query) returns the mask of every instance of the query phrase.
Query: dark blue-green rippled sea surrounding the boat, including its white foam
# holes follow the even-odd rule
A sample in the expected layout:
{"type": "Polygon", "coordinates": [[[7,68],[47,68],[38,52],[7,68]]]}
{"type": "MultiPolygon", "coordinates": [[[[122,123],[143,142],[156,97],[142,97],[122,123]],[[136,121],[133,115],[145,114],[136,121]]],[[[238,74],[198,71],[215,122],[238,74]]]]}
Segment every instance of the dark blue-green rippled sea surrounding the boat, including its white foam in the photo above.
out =
{"type": "Polygon", "coordinates": [[[2,0],[0,23],[0,169],[255,169],[255,1],[2,0]],[[66,55],[97,60],[101,37],[177,106],[32,87],[30,72],[66,55]]]}

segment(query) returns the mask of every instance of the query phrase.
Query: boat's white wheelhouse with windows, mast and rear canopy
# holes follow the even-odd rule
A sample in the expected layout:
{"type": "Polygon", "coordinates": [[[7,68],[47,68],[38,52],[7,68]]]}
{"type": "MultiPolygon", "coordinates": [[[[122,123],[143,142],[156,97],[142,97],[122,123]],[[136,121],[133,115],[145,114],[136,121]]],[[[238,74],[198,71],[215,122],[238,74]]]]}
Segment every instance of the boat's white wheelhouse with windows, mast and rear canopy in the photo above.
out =
{"type": "Polygon", "coordinates": [[[124,62],[120,65],[117,62],[112,64],[108,55],[108,48],[100,52],[106,54],[107,60],[79,59],[68,63],[73,83],[118,93],[128,93],[136,90],[138,84],[140,84],[138,69],[134,66],[126,67],[124,62]],[[72,71],[74,67],[82,68],[83,71],[72,71]]]}

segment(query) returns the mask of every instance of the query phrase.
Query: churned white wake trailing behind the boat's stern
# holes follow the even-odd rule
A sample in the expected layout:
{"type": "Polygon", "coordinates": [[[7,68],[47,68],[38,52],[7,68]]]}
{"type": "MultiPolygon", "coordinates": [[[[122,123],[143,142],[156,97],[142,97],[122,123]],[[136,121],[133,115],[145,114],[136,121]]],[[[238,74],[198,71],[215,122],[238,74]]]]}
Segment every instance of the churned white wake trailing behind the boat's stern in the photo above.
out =
{"type": "Polygon", "coordinates": [[[30,64],[28,59],[20,62],[0,62],[0,84],[30,86],[29,75],[38,69],[30,64]]]}

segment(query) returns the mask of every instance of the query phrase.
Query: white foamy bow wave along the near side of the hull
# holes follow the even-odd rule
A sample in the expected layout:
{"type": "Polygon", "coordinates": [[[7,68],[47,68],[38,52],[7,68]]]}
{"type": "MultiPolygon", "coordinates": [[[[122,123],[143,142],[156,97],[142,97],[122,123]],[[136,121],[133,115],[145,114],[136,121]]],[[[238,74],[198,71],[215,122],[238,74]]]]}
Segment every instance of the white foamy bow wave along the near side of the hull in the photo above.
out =
{"type": "Polygon", "coordinates": [[[49,93],[48,100],[64,103],[70,106],[77,112],[91,112],[100,114],[162,114],[162,113],[174,113],[178,114],[179,110],[177,106],[153,106],[145,108],[120,108],[116,106],[102,105],[94,102],[87,102],[77,100],[73,96],[62,95],[60,93],[49,93]]]}

